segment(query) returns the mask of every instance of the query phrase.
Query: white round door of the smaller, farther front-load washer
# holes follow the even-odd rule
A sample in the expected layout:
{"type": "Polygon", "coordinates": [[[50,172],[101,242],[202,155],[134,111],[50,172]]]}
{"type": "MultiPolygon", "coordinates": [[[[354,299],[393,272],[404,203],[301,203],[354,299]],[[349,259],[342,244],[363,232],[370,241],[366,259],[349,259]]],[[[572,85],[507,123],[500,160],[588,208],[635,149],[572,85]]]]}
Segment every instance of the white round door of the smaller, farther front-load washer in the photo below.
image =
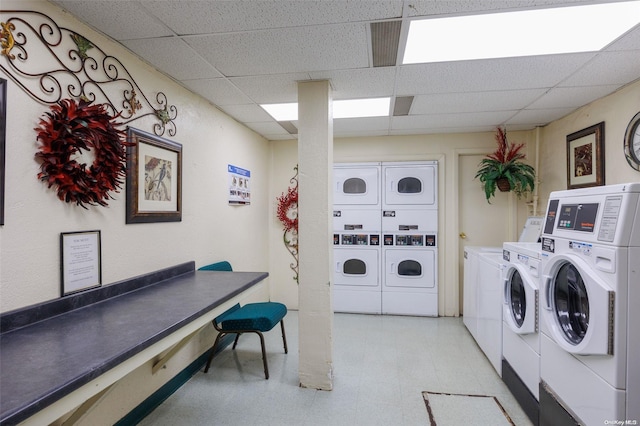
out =
{"type": "Polygon", "coordinates": [[[517,334],[538,331],[538,288],[520,265],[508,265],[504,272],[503,319],[517,334]]]}

